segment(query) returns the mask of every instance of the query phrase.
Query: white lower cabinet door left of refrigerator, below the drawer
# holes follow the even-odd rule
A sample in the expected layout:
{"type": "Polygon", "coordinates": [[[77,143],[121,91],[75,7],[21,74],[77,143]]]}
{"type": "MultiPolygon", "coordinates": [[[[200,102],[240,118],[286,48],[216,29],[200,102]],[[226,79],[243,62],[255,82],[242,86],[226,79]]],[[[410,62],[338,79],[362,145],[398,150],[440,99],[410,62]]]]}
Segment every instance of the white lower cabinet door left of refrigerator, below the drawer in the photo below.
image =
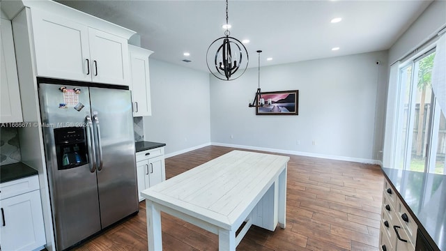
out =
{"type": "Polygon", "coordinates": [[[39,190],[3,199],[0,204],[1,250],[34,250],[45,245],[39,190]]]}

